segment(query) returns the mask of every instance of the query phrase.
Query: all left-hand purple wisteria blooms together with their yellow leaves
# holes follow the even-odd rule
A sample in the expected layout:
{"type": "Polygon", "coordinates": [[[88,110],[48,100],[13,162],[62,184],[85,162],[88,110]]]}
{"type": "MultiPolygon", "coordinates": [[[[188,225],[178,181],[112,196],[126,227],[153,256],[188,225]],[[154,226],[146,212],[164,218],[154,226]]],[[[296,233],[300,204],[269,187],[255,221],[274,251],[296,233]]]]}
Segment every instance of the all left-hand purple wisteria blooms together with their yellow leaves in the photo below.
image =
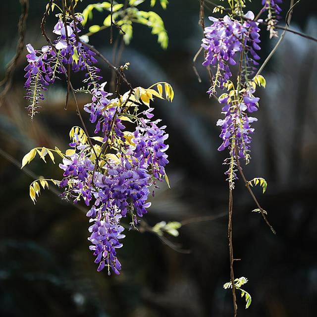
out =
{"type": "Polygon", "coordinates": [[[95,126],[95,136],[90,137],[83,128],[73,127],[71,149],[65,153],[57,148],[33,149],[23,158],[22,167],[37,153],[42,159],[48,154],[53,160],[53,153],[62,158],[59,164],[62,180],[35,181],[30,186],[30,196],[35,202],[40,185],[45,188],[48,181],[53,181],[63,189],[63,199],[74,204],[83,201],[89,207],[91,235],[88,240],[95,263],[99,264],[98,271],[107,267],[108,273],[112,269],[119,274],[121,264],[116,252],[124,238],[122,218],[130,214],[130,225],[136,227],[138,219],[151,206],[150,188],[154,195],[158,182],[163,179],[168,182],[165,173],[168,134],[166,126],[159,125],[159,119],[153,120],[154,108],[150,102],[154,97],[164,99],[163,90],[165,98],[172,101],[174,93],[169,84],[157,83],[149,89],[138,87],[112,98],[112,94],[105,91],[106,83],[101,83],[95,53],[78,38],[81,16],[77,15],[75,21],[67,16],[66,24],[64,21],[60,15],[53,30],[58,36],[53,46],[36,51],[27,45],[29,65],[25,69],[25,87],[27,99],[32,103],[28,109],[33,118],[39,101],[44,98],[42,91],[53,84],[58,75],[65,75],[70,65],[74,72],[84,71],[87,87],[77,92],[91,95],[91,102],[83,108],[95,126]],[[142,110],[143,105],[147,106],[146,110],[142,110]],[[134,130],[128,131],[126,124],[134,130]]]}

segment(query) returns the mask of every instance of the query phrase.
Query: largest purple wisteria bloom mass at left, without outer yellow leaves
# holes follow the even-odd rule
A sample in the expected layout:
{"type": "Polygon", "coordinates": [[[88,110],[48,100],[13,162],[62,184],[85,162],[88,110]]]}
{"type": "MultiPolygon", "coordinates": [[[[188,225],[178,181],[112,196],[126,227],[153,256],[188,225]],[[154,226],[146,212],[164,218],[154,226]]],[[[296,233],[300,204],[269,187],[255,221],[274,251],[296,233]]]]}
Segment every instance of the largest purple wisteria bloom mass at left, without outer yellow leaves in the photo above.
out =
{"type": "MultiPolygon", "coordinates": [[[[111,268],[118,274],[121,264],[116,249],[122,246],[119,240],[124,237],[121,218],[130,212],[132,224],[137,225],[138,217],[147,213],[151,206],[149,188],[158,187],[156,182],[162,181],[168,163],[165,153],[168,134],[166,126],[158,126],[160,120],[151,120],[153,108],[143,111],[144,117],[138,117],[134,133],[125,131],[119,119],[123,106],[119,106],[118,99],[110,99],[111,94],[104,91],[104,86],[91,90],[92,103],[84,109],[90,113],[90,121],[97,122],[95,133],[102,134],[104,144],[113,145],[113,150],[117,147],[116,153],[101,154],[99,160],[104,164],[99,168],[95,165],[96,159],[89,159],[92,156],[90,146],[75,134],[75,142],[70,146],[76,153],[59,165],[64,170],[60,186],[64,188],[63,198],[73,199],[74,203],[83,199],[91,207],[87,213],[93,222],[89,241],[95,262],[99,264],[98,270],[107,266],[108,271],[111,268]]],[[[99,154],[101,151],[102,148],[99,154]]]]}

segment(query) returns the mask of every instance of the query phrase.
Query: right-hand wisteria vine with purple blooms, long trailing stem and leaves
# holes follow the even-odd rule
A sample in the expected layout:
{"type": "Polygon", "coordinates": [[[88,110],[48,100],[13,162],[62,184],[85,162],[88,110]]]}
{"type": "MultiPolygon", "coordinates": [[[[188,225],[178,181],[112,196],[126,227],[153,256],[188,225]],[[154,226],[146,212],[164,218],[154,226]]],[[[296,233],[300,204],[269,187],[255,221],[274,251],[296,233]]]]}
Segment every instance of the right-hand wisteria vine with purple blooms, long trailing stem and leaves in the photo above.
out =
{"type": "MultiPolygon", "coordinates": [[[[246,0],[228,0],[229,9],[223,6],[215,6],[213,12],[226,11],[227,15],[223,18],[210,17],[212,25],[204,30],[202,48],[205,50],[204,66],[210,67],[213,74],[210,76],[211,87],[208,90],[210,96],[215,97],[219,91],[222,94],[218,97],[218,102],[222,106],[224,118],[217,121],[216,125],[221,128],[221,145],[218,151],[227,149],[229,156],[224,159],[223,164],[227,165],[225,175],[229,183],[229,217],[228,217],[228,239],[230,255],[230,282],[224,284],[224,288],[232,288],[234,316],[237,316],[236,290],[241,291],[241,296],[245,296],[246,308],[251,304],[251,295],[241,288],[248,280],[245,277],[234,277],[234,255],[232,243],[232,212],[233,194],[237,171],[240,172],[242,179],[254,199],[258,211],[262,214],[266,224],[275,233],[269,224],[266,214],[262,209],[251,187],[260,184],[263,192],[266,190],[267,183],[264,178],[256,177],[247,181],[244,176],[240,160],[245,163],[250,161],[252,134],[255,129],[252,123],[258,121],[253,117],[253,113],[258,110],[260,98],[255,96],[257,86],[265,87],[265,79],[260,75],[263,67],[255,74],[256,66],[260,56],[256,51],[261,48],[259,24],[263,20],[258,19],[265,11],[265,20],[270,38],[276,36],[275,26],[281,9],[278,4],[282,0],[262,0],[264,5],[257,17],[252,11],[244,13],[246,0]],[[236,65],[236,66],[235,66],[236,65]],[[232,77],[233,67],[236,67],[236,80],[232,77]]],[[[292,2],[291,2],[292,9],[292,2]]],[[[290,10],[291,10],[290,9],[290,10]]],[[[203,11],[203,3],[201,4],[203,11]]],[[[201,15],[202,17],[202,15],[201,15]]]]}

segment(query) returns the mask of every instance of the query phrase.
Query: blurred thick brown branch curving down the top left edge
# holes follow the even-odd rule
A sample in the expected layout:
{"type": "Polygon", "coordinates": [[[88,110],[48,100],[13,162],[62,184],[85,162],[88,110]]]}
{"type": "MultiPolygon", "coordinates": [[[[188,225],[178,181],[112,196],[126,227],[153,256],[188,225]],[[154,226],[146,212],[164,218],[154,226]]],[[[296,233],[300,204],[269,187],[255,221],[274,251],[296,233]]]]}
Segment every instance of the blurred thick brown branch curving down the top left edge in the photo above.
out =
{"type": "Polygon", "coordinates": [[[28,16],[29,12],[29,0],[20,0],[21,3],[21,15],[19,18],[18,22],[18,31],[19,31],[19,40],[16,46],[16,51],[14,57],[9,61],[9,63],[6,66],[5,70],[5,76],[4,78],[0,81],[0,86],[4,85],[4,89],[2,90],[0,94],[0,106],[3,103],[3,100],[6,96],[6,94],[9,92],[9,90],[12,87],[12,77],[13,77],[13,72],[16,67],[16,64],[18,62],[18,59],[20,58],[23,50],[24,50],[24,38],[25,38],[25,24],[26,24],[26,19],[28,16]]]}

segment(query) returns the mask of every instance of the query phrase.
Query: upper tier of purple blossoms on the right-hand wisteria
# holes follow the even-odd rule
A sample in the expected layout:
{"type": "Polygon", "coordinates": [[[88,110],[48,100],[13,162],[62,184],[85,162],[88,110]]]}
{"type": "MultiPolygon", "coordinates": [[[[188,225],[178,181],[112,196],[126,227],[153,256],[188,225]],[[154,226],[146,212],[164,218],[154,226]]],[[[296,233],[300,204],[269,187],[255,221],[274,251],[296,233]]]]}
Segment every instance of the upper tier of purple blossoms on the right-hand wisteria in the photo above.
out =
{"type": "Polygon", "coordinates": [[[255,16],[251,11],[247,12],[245,17],[248,20],[243,24],[232,20],[228,15],[223,19],[209,18],[213,24],[205,28],[202,47],[207,51],[203,65],[212,65],[215,68],[213,84],[208,91],[211,95],[215,93],[216,87],[223,89],[223,85],[232,76],[229,65],[236,64],[237,53],[242,50],[246,52],[245,77],[253,70],[253,65],[258,65],[256,60],[260,59],[260,56],[256,51],[260,50],[258,43],[261,20],[253,21],[255,16]]]}

